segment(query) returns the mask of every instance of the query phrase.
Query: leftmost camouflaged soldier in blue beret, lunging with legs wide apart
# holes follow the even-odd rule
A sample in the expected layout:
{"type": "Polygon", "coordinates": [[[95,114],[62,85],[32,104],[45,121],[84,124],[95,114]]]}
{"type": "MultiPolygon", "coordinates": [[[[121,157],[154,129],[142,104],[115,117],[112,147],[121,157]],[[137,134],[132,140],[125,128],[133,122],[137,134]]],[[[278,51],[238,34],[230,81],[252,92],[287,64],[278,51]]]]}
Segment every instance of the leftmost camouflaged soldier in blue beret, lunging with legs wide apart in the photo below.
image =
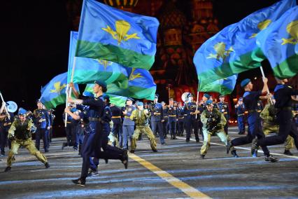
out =
{"type": "Polygon", "coordinates": [[[17,154],[17,150],[20,146],[24,146],[24,148],[26,148],[32,156],[36,156],[39,161],[45,164],[45,168],[48,169],[50,167],[47,158],[45,158],[43,153],[36,149],[34,143],[32,142],[31,132],[34,132],[36,129],[32,121],[27,118],[26,113],[26,110],[20,108],[17,118],[15,118],[15,121],[13,121],[13,124],[8,130],[8,139],[12,140],[12,142],[11,149],[8,153],[7,167],[4,172],[11,170],[11,165],[15,160],[15,154],[17,154]]]}

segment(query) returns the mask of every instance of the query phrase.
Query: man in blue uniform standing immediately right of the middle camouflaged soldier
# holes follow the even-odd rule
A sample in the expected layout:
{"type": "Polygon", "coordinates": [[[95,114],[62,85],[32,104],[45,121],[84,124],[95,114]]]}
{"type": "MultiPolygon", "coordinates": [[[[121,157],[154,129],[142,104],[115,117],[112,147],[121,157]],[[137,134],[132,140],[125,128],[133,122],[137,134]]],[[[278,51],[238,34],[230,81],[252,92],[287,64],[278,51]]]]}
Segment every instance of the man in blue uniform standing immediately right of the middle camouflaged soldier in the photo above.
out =
{"type": "Polygon", "coordinates": [[[164,111],[162,109],[162,104],[158,103],[158,95],[155,94],[153,104],[150,104],[150,114],[151,114],[151,127],[154,135],[159,135],[160,144],[164,145],[164,132],[162,129],[162,122],[164,122],[164,111]]]}

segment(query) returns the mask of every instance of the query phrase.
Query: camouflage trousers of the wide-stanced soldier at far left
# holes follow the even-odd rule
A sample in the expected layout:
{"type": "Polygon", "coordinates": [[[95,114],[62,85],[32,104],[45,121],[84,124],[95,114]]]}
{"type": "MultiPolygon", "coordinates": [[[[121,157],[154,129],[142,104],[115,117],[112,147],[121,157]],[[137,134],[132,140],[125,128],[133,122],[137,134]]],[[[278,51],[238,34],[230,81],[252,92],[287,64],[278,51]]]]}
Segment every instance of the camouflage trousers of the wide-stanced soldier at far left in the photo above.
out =
{"type": "Polygon", "coordinates": [[[18,149],[20,146],[24,146],[32,156],[35,156],[39,161],[41,161],[43,164],[47,163],[47,158],[38,151],[35,147],[34,142],[32,142],[32,139],[15,139],[13,142],[11,142],[11,149],[8,152],[8,158],[7,158],[7,166],[11,167],[13,164],[13,161],[15,160],[15,154],[17,154],[18,149]]]}

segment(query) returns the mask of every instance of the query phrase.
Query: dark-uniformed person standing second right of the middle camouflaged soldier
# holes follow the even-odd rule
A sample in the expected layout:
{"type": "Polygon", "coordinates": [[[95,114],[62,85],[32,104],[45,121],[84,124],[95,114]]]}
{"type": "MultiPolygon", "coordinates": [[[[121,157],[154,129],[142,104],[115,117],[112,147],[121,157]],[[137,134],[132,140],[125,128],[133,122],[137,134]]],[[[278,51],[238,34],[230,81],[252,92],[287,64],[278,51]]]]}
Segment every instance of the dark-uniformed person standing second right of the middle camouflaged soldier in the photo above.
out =
{"type": "Polygon", "coordinates": [[[171,133],[171,139],[176,138],[176,123],[178,121],[178,107],[177,102],[173,101],[173,98],[169,99],[169,128],[171,133]]]}

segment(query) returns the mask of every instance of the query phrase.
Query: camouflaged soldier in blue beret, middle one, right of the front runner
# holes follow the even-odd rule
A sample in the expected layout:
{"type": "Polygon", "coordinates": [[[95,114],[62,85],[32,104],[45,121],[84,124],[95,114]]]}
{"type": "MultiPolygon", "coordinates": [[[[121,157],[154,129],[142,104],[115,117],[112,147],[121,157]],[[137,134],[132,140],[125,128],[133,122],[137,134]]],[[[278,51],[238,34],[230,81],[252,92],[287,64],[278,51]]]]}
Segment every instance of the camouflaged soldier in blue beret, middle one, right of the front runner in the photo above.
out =
{"type": "Polygon", "coordinates": [[[138,102],[136,104],[137,109],[132,111],[130,118],[136,124],[136,130],[134,130],[134,135],[132,136],[132,149],[130,153],[134,153],[136,149],[136,140],[139,138],[140,133],[145,133],[150,140],[150,146],[153,152],[157,152],[155,136],[149,127],[148,118],[150,118],[150,112],[147,109],[143,109],[143,102],[138,102]]]}

